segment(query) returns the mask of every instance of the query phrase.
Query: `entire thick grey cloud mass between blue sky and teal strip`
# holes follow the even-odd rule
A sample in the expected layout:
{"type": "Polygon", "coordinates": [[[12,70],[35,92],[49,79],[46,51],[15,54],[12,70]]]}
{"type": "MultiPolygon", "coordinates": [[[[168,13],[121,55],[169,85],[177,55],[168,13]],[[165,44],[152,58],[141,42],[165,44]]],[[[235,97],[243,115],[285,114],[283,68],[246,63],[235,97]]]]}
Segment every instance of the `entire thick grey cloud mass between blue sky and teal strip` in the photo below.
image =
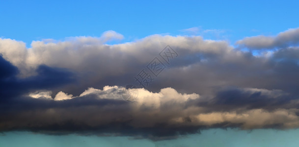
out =
{"type": "Polygon", "coordinates": [[[159,140],[210,127],[297,128],[297,32],[238,42],[271,48],[258,55],[200,36],[152,35],[116,45],[103,44],[105,35],[75,37],[36,41],[30,49],[0,39],[0,130],[159,140]],[[122,86],[138,86],[134,76],[167,44],[179,55],[138,89],[135,102],[122,100],[122,86]]]}

